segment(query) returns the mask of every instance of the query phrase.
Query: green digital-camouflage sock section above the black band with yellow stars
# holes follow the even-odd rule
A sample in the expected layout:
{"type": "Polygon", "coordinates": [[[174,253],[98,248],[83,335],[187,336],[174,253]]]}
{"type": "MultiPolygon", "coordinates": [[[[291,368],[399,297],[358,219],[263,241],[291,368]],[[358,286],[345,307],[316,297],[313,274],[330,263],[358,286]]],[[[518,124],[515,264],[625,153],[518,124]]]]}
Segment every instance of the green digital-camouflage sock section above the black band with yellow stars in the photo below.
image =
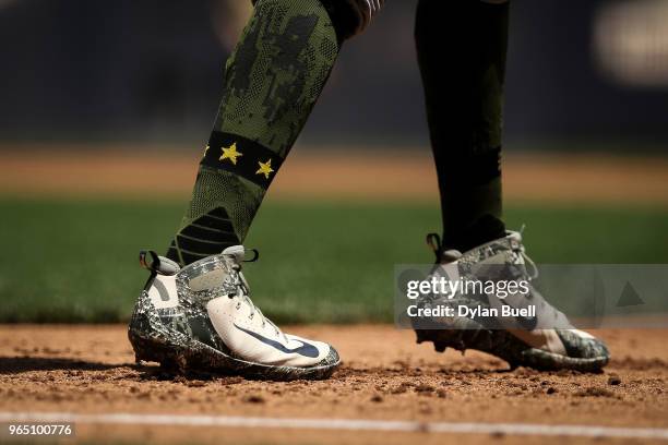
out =
{"type": "Polygon", "coordinates": [[[319,0],[261,0],[227,61],[215,130],[257,141],[285,157],[338,55],[319,0]]]}

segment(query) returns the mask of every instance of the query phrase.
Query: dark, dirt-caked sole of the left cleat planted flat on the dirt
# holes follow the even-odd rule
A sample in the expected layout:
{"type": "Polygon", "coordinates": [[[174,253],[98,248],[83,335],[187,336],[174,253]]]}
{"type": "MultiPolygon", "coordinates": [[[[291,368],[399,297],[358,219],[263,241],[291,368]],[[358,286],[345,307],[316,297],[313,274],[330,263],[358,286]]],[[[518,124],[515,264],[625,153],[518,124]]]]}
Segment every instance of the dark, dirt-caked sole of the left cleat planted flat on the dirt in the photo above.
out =
{"type": "Polygon", "coordinates": [[[333,364],[310,368],[274,366],[236,359],[194,339],[188,346],[175,346],[158,337],[146,337],[132,328],[128,330],[128,338],[138,362],[157,362],[175,374],[195,371],[270,381],[325,380],[341,364],[341,360],[337,360],[333,364]]]}

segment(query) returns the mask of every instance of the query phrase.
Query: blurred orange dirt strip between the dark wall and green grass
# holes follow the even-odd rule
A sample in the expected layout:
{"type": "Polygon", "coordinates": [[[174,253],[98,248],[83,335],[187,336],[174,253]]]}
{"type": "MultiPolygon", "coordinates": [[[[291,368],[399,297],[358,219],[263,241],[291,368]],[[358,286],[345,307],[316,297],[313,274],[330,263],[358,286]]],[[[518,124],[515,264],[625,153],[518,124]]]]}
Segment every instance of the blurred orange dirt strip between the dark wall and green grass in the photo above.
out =
{"type": "MultiPolygon", "coordinates": [[[[0,193],[186,200],[198,156],[159,146],[0,145],[0,193]]],[[[389,152],[298,147],[281,171],[270,192],[279,199],[438,199],[427,147],[389,152]]],[[[503,159],[503,193],[511,203],[666,206],[666,178],[668,159],[660,157],[511,152],[503,159]]]]}

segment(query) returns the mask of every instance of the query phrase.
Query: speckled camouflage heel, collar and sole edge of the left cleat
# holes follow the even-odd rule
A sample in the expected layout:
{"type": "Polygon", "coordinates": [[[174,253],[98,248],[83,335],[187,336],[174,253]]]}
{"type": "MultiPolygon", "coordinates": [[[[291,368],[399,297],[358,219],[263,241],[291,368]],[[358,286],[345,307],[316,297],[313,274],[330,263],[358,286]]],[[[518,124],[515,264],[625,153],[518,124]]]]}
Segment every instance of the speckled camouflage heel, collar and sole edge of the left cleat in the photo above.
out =
{"type": "Polygon", "coordinates": [[[320,363],[297,368],[249,362],[225,346],[205,306],[215,298],[236,294],[242,279],[239,270],[238,262],[229,255],[210,256],[180,269],[176,277],[179,304],[175,309],[156,309],[146,286],[128,332],[138,362],[156,361],[176,373],[192,370],[275,381],[321,380],[332,375],[341,363],[334,348],[320,363]]]}

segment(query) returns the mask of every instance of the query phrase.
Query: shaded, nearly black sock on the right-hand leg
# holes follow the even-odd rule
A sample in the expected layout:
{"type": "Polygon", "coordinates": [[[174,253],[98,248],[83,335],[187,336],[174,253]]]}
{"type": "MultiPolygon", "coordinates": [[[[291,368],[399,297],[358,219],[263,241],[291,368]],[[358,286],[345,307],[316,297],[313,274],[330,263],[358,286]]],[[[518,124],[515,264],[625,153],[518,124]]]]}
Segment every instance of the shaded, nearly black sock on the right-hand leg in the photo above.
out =
{"type": "Polygon", "coordinates": [[[500,157],[509,4],[491,3],[418,4],[418,61],[449,249],[468,250],[504,234],[500,157]]]}

